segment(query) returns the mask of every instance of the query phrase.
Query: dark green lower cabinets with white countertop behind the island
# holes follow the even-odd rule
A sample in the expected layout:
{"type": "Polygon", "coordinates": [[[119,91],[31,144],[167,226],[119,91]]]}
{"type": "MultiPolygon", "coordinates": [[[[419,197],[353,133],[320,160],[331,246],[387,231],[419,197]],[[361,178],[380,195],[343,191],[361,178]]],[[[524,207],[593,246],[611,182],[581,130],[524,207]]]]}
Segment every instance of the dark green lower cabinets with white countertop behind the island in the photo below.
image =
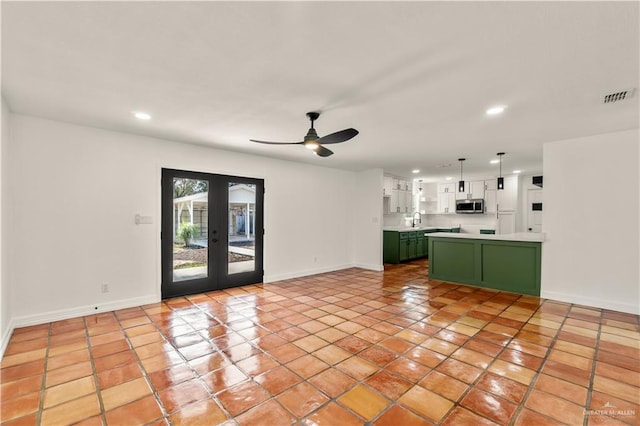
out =
{"type": "Polygon", "coordinates": [[[419,231],[384,231],[382,257],[384,263],[400,263],[429,256],[429,239],[433,232],[460,232],[460,228],[422,229],[419,231]]]}

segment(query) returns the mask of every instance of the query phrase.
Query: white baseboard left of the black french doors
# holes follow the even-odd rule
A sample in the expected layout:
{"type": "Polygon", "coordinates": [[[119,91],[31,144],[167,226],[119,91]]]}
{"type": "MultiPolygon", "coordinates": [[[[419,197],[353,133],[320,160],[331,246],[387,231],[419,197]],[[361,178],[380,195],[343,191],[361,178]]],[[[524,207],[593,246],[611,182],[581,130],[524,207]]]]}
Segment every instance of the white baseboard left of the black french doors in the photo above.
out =
{"type": "Polygon", "coordinates": [[[27,327],[30,325],[44,324],[47,322],[61,321],[69,318],[83,317],[87,315],[99,314],[102,312],[111,312],[118,309],[133,308],[135,306],[148,305],[157,303],[160,299],[157,296],[143,296],[133,299],[116,300],[114,302],[105,303],[103,305],[87,305],[77,306],[69,309],[60,309],[58,311],[44,312],[35,315],[24,315],[12,319],[14,328],[27,327]]]}

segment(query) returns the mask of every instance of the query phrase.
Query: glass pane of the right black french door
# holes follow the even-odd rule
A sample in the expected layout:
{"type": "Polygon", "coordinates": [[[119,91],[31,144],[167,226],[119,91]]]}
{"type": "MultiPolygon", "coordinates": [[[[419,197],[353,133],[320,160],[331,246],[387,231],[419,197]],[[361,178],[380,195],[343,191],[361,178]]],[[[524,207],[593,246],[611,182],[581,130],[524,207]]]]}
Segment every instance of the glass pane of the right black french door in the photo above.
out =
{"type": "Polygon", "coordinates": [[[229,182],[229,274],[256,268],[256,185],[229,182]]]}

